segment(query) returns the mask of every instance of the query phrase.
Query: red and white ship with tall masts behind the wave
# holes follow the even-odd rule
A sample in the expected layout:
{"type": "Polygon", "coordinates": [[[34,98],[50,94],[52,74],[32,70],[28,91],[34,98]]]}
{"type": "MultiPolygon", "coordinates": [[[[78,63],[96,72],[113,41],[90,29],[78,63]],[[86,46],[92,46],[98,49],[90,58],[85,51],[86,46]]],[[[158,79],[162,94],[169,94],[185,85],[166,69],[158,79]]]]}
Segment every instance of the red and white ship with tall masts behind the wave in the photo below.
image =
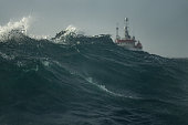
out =
{"type": "Polygon", "coordinates": [[[116,39],[115,43],[119,46],[123,46],[127,50],[134,50],[134,51],[143,51],[142,43],[135,39],[135,37],[129,35],[129,29],[128,29],[128,18],[125,18],[124,20],[125,27],[124,27],[124,37],[121,39],[118,35],[118,25],[116,27],[116,39]]]}

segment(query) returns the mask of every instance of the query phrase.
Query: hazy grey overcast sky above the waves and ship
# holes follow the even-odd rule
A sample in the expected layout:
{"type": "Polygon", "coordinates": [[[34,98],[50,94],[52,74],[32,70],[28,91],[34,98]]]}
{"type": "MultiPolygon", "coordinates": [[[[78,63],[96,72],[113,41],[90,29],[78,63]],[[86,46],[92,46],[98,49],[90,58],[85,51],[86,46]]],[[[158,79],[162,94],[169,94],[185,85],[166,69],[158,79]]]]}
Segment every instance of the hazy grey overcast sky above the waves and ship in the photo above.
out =
{"type": "Polygon", "coordinates": [[[188,58],[188,0],[0,0],[0,25],[32,15],[32,34],[50,34],[72,24],[86,34],[109,33],[129,18],[134,34],[149,53],[188,58]]]}

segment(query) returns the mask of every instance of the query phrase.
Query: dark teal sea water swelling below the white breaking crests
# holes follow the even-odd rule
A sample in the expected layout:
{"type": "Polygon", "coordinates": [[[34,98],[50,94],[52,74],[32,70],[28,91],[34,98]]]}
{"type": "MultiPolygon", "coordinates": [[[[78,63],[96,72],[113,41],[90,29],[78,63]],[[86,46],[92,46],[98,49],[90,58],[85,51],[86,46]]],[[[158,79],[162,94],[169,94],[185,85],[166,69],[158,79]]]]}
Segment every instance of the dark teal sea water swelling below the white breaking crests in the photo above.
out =
{"type": "Polygon", "coordinates": [[[0,125],[188,124],[188,60],[69,40],[0,43],[0,125]]]}

